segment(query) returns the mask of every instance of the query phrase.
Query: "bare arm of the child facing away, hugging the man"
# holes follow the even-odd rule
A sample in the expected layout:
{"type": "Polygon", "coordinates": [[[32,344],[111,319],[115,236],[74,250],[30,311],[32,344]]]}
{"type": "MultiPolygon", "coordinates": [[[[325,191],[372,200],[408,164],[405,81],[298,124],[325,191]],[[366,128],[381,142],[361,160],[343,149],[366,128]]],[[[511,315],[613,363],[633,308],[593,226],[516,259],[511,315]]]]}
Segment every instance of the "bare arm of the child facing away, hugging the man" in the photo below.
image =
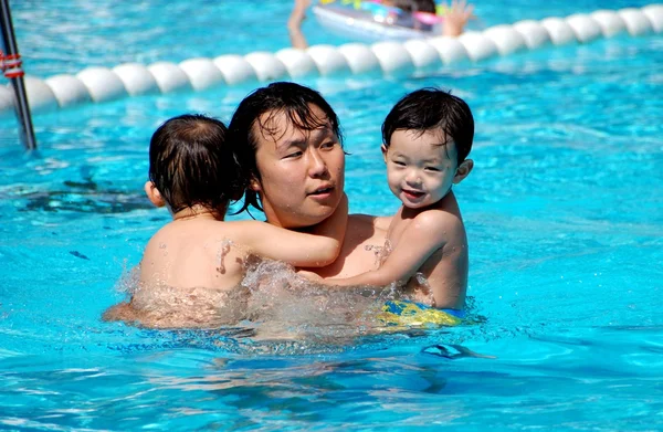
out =
{"type": "Polygon", "coordinates": [[[232,223],[240,235],[238,241],[252,253],[294,266],[323,267],[333,263],[345,238],[348,222],[348,198],[344,193],[334,213],[316,225],[315,234],[286,230],[266,222],[232,223]]]}

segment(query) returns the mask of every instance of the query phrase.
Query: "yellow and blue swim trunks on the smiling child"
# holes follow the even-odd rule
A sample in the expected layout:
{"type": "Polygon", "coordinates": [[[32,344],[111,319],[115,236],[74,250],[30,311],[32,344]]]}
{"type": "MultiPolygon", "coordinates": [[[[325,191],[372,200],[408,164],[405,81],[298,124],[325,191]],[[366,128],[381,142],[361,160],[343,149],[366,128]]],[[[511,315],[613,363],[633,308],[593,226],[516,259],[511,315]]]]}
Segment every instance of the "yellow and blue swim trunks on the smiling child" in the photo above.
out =
{"type": "Polygon", "coordinates": [[[421,303],[389,301],[378,318],[388,326],[457,326],[463,322],[463,310],[435,309],[421,303]]]}

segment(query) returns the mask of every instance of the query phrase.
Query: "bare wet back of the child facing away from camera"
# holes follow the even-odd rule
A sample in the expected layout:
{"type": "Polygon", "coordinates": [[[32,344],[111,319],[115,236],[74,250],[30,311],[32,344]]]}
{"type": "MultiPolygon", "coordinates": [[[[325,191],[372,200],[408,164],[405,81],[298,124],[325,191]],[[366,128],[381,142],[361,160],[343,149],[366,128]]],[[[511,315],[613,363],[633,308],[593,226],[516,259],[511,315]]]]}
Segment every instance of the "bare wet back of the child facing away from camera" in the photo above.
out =
{"type": "Polygon", "coordinates": [[[176,220],[148,242],[131,299],[113,306],[106,320],[151,328],[218,327],[244,317],[245,253],[214,219],[176,220]]]}

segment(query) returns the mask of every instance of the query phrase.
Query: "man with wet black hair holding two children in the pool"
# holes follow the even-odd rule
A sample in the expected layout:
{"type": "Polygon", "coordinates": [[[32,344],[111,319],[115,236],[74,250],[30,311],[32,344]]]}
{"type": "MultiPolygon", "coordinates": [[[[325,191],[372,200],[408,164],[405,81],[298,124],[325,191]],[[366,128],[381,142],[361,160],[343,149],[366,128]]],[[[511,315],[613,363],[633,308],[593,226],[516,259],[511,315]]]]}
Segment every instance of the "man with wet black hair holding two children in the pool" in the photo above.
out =
{"type": "MultiPolygon", "coordinates": [[[[315,91],[294,83],[273,83],[242,101],[230,123],[230,144],[250,179],[242,210],[263,210],[269,223],[309,231],[334,213],[343,194],[345,159],[336,113],[315,91]]],[[[453,192],[445,196],[455,201],[453,192]]],[[[348,217],[337,260],[311,268],[320,277],[346,278],[379,267],[391,218],[348,217]]],[[[466,250],[465,250],[466,259],[466,250]]],[[[459,270],[464,307],[467,266],[459,270]]],[[[390,282],[396,282],[390,281],[390,282]]]]}

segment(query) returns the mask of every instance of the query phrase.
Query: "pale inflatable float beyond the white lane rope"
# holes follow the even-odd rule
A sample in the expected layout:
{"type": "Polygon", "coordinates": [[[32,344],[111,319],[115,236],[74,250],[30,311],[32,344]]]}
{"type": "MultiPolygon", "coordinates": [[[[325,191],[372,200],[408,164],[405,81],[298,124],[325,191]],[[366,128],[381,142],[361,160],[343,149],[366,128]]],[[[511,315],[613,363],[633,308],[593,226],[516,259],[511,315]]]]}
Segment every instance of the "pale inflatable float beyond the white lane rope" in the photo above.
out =
{"type": "Polygon", "coordinates": [[[317,22],[329,31],[373,41],[430,38],[440,34],[442,21],[442,11],[408,13],[370,0],[322,0],[312,10],[317,22]]]}

